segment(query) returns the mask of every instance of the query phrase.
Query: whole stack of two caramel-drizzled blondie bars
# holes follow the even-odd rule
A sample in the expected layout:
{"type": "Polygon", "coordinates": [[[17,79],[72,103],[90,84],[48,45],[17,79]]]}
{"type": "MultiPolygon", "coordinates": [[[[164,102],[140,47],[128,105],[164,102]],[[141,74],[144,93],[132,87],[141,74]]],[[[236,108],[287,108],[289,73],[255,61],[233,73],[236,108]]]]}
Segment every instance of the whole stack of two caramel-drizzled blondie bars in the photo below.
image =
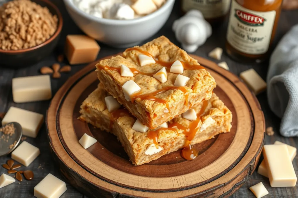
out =
{"type": "Polygon", "coordinates": [[[135,165],[229,132],[232,113],[213,93],[214,78],[184,50],[159,37],[96,65],[100,83],[80,119],[116,135],[135,165]]]}

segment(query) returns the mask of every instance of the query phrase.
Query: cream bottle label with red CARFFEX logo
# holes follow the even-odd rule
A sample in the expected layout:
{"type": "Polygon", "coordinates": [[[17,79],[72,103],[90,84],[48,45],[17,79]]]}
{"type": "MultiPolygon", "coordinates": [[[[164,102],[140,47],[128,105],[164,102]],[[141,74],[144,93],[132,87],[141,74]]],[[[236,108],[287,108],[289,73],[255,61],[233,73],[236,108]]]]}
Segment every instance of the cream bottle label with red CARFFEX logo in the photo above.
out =
{"type": "Polygon", "coordinates": [[[236,50],[246,54],[264,54],[268,51],[275,10],[257,12],[240,6],[232,0],[226,39],[236,50]]]}

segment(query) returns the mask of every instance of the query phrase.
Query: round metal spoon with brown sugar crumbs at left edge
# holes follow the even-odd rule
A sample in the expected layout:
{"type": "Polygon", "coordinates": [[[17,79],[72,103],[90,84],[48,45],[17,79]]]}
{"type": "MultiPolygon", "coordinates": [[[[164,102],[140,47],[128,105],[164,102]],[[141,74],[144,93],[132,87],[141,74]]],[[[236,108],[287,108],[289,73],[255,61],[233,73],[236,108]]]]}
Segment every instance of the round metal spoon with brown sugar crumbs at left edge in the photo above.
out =
{"type": "MultiPolygon", "coordinates": [[[[9,136],[9,135],[5,135],[2,132],[0,132],[0,156],[4,156],[4,155],[7,155],[7,154],[13,152],[13,150],[15,148],[17,148],[18,144],[21,141],[21,137],[22,137],[22,127],[19,123],[10,122],[7,124],[13,124],[13,126],[15,127],[15,133],[12,134],[12,136],[9,136]],[[5,135],[8,138],[5,138],[5,140],[2,139],[1,138],[2,135],[5,135]],[[6,141],[6,140],[8,140],[8,141],[6,141]],[[15,141],[16,141],[16,144],[14,145],[14,147],[9,148],[9,146],[12,145],[15,141]]],[[[5,124],[4,126],[6,126],[7,124],[5,124]]],[[[1,128],[3,128],[4,126],[2,126],[1,128]]]]}

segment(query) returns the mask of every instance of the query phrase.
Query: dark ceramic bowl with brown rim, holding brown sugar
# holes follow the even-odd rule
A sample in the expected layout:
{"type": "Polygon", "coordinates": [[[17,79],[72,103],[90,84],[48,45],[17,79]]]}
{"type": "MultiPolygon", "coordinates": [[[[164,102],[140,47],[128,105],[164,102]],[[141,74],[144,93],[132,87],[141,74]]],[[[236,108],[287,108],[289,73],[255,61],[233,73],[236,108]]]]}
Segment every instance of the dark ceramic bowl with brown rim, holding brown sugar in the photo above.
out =
{"type": "Polygon", "coordinates": [[[53,15],[57,15],[58,26],[53,36],[44,43],[24,50],[1,50],[0,66],[22,68],[37,63],[48,56],[56,47],[62,30],[63,19],[59,9],[49,0],[31,0],[42,7],[47,7],[53,15]]]}

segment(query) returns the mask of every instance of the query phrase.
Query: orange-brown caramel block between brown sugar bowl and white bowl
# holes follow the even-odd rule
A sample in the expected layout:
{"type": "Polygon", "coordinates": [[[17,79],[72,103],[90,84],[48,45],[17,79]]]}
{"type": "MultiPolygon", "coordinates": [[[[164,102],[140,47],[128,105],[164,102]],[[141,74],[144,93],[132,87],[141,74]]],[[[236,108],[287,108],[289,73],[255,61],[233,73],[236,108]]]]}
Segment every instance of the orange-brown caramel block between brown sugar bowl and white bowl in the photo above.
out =
{"type": "Polygon", "coordinates": [[[69,64],[83,64],[95,61],[100,46],[97,42],[85,35],[67,35],[65,55],[69,64]]]}

